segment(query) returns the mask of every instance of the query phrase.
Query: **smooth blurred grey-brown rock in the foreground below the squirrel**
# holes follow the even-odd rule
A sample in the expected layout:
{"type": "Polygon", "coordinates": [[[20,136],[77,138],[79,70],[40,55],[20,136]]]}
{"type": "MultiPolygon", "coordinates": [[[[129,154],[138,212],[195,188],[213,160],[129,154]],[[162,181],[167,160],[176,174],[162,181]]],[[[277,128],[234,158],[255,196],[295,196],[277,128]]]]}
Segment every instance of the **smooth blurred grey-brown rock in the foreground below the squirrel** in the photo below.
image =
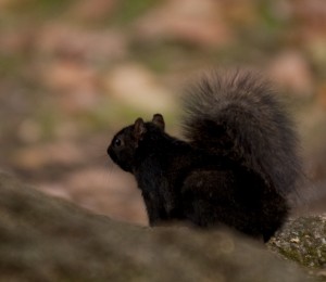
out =
{"type": "Polygon", "coordinates": [[[308,281],[228,231],[141,228],[93,215],[0,174],[1,281],[308,281]]]}

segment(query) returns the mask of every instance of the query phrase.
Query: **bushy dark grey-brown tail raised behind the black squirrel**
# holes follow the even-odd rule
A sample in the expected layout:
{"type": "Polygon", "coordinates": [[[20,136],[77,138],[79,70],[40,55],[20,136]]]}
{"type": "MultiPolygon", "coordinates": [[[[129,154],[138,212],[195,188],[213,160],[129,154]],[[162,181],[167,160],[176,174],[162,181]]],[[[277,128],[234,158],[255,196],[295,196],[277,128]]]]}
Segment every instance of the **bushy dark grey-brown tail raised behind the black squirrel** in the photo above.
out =
{"type": "Polygon", "coordinates": [[[302,175],[292,121],[268,84],[250,72],[204,76],[185,97],[185,137],[259,172],[283,194],[302,175]]]}

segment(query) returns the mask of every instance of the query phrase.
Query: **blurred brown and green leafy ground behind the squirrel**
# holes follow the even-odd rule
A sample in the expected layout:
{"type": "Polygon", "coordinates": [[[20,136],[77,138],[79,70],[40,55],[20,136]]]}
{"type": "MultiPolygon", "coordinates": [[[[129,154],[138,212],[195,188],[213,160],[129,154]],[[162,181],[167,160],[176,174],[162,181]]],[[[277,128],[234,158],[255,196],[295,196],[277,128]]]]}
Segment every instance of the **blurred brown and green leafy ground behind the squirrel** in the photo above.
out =
{"type": "Polygon", "coordinates": [[[181,89],[251,67],[287,97],[311,210],[326,206],[326,1],[0,0],[0,169],[118,220],[147,225],[105,151],[138,116],[178,134],[181,89]],[[317,192],[316,192],[317,191],[317,192]]]}

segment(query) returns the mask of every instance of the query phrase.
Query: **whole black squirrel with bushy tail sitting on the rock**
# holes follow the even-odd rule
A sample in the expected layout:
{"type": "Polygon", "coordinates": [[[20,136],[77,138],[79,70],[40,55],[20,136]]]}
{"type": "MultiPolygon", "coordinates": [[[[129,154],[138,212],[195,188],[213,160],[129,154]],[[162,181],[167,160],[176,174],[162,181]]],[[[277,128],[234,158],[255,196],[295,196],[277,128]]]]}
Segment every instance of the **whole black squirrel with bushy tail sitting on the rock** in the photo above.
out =
{"type": "Polygon", "coordinates": [[[268,84],[250,72],[202,77],[185,98],[187,141],[164,119],[137,118],[108,154],[135,175],[151,226],[226,225],[268,241],[289,214],[301,175],[297,134],[268,84]]]}

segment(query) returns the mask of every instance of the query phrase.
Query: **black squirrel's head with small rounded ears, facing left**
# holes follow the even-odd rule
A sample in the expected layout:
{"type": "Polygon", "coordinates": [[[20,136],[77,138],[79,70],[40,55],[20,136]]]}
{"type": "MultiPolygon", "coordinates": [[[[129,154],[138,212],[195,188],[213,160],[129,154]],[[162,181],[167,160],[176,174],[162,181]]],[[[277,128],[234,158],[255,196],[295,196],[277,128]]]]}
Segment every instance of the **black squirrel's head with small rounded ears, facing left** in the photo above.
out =
{"type": "Polygon", "coordinates": [[[123,128],[113,137],[108,154],[123,170],[133,172],[140,144],[152,132],[163,132],[164,128],[165,123],[161,114],[153,115],[150,123],[145,123],[138,117],[133,125],[123,128]]]}

